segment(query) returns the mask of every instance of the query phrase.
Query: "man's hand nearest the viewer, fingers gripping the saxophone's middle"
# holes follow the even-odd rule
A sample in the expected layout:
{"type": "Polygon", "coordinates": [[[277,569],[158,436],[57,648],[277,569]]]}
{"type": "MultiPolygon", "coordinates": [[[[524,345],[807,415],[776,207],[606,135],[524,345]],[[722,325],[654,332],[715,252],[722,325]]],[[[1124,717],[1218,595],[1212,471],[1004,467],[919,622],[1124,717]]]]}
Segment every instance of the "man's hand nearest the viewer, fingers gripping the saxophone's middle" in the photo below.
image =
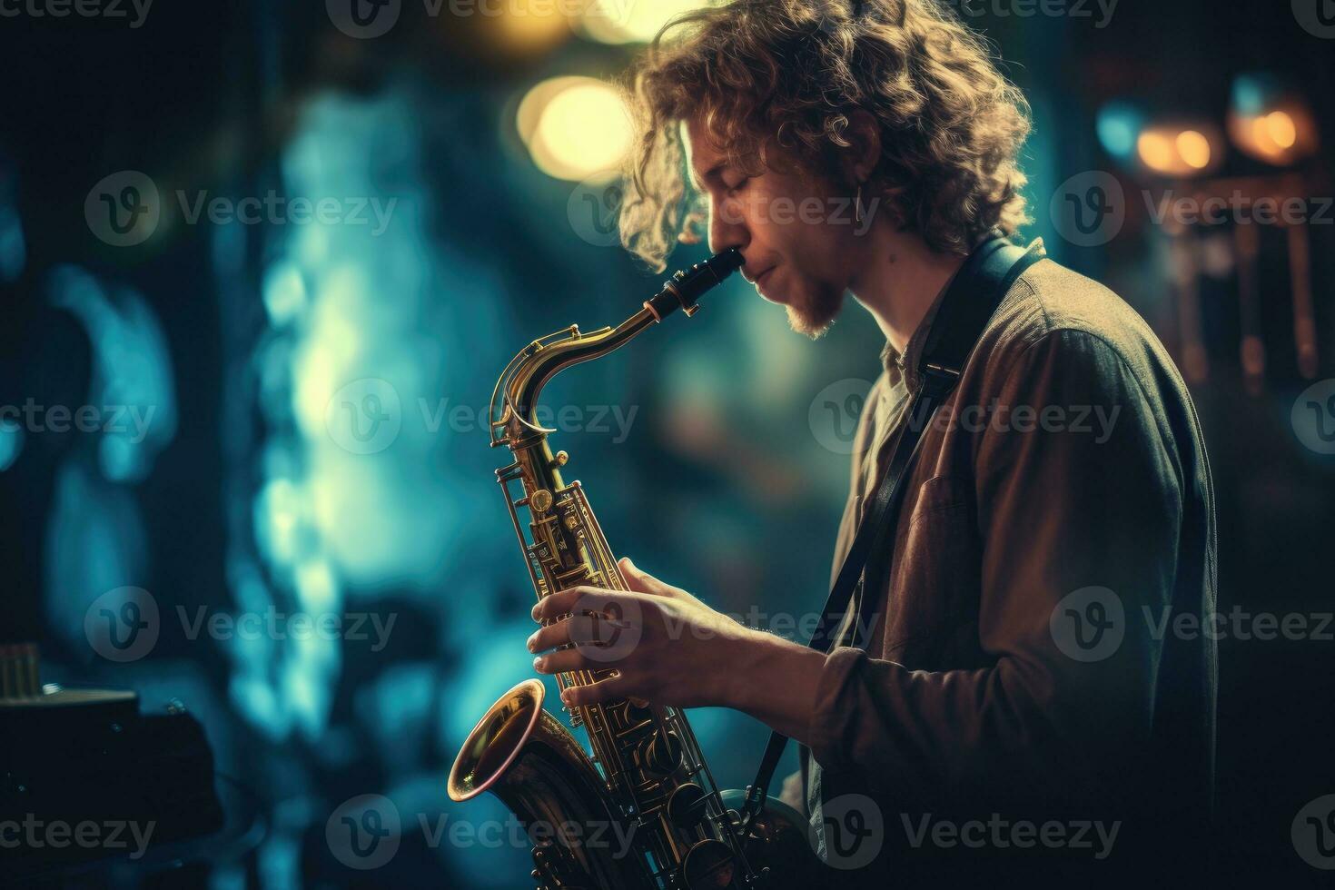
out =
{"type": "Polygon", "coordinates": [[[543,674],[618,671],[566,689],[561,698],[571,707],[621,698],[737,707],[737,681],[744,679],[740,656],[760,631],[639,571],[629,559],[618,564],[630,591],[571,587],[534,607],[534,620],[545,627],[529,638],[529,651],[574,643],[535,658],[534,669],[543,674]]]}

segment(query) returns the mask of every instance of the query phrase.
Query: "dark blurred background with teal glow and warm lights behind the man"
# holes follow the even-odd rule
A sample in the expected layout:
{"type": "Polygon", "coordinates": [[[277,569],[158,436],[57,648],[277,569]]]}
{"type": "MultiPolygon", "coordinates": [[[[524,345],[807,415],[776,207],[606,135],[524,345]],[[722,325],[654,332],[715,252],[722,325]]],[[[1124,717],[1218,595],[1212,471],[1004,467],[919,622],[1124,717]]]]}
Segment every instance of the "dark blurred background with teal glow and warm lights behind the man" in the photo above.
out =
{"type": "MultiPolygon", "coordinates": [[[[474,721],[531,674],[486,410],[531,339],[661,286],[615,240],[606,81],[692,5],[391,0],[359,25],[332,0],[0,4],[0,642],[40,643],[44,682],[179,699],[243,823],[80,882],[526,881],[526,845],[450,834],[501,805],[445,795],[474,721]],[[131,599],[158,618],[125,656],[99,616],[131,599]],[[228,624],[299,612],[346,632],[228,624]],[[402,842],[356,870],[326,827],[367,794],[402,842]]],[[[961,9],[1033,107],[1025,238],[1131,302],[1191,384],[1220,611],[1308,631],[1335,608],[1330,7],[961,9]],[[1208,220],[1160,212],[1211,195],[1208,220]],[[1267,196],[1302,219],[1258,220],[1267,196]]],[[[643,568],[726,611],[813,612],[878,331],[850,306],[813,344],[740,276],[674,322],[547,388],[567,478],[643,568]]],[[[1335,794],[1332,632],[1220,640],[1234,874],[1328,878],[1291,829],[1335,794]]],[[[744,786],[765,729],[692,717],[744,786]]]]}

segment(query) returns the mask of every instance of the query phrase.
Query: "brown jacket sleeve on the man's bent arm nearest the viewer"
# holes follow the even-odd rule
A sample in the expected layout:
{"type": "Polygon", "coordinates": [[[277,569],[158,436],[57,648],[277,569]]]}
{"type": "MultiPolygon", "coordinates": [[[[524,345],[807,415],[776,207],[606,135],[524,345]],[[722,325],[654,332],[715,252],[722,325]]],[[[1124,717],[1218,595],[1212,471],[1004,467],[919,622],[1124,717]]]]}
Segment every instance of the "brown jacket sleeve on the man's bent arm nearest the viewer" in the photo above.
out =
{"type": "Polygon", "coordinates": [[[985,374],[999,384],[984,396],[1011,412],[972,436],[988,666],[918,671],[838,648],[809,745],[882,793],[1079,797],[1145,749],[1179,474],[1153,394],[1099,336],[1052,331],[985,374]],[[1087,408],[1091,430],[1075,423],[1087,408]]]}

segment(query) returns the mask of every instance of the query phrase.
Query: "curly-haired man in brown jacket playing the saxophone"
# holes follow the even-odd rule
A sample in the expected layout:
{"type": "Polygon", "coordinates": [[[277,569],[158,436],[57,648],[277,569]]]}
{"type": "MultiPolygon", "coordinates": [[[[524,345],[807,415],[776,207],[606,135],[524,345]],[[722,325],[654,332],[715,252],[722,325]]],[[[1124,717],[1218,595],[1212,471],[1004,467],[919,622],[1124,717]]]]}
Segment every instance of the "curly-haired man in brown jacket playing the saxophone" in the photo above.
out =
{"type": "MultiPolygon", "coordinates": [[[[932,0],[734,0],[669,25],[629,85],[629,250],[662,268],[704,217],[710,250],[740,250],[794,331],[818,338],[852,295],[885,335],[837,570],[910,423],[943,295],[980,243],[1027,221],[1027,104],[932,0]],[[682,217],[684,195],[698,216],[682,217]]],[[[869,881],[1036,862],[1097,875],[1192,850],[1212,795],[1215,644],[1164,628],[1214,611],[1215,519],[1171,358],[1117,295],[1044,259],[1005,290],[937,418],[829,651],[622,560],[629,592],[539,602],[534,667],[615,667],[565,689],[570,707],[724,706],[797,739],[785,797],[826,862],[842,827],[826,807],[876,807],[869,881]],[[619,616],[635,644],[609,663],[590,614],[619,616]]]]}

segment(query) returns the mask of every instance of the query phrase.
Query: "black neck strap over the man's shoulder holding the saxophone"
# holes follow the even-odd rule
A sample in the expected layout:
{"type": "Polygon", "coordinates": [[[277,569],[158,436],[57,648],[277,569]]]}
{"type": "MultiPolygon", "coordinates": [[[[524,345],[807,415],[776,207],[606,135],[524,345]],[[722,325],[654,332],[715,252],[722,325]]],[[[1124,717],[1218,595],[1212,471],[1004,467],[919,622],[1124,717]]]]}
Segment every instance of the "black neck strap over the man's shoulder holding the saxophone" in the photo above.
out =
{"type": "MultiPolygon", "coordinates": [[[[969,254],[964,266],[956,272],[955,280],[951,282],[941,298],[941,306],[928,331],[926,343],[918,360],[918,379],[922,384],[909,403],[904,431],[900,434],[890,463],[876,490],[876,496],[868,506],[848,555],[840,566],[834,586],[830,588],[830,595],[821,611],[821,620],[808,642],[809,647],[822,652],[829,651],[830,635],[844,622],[868,556],[873,550],[884,551],[888,546],[885,538],[893,526],[889,519],[894,516],[898,503],[904,499],[904,486],[900,484],[900,480],[908,475],[913,466],[922,431],[930,424],[936,410],[955,388],[973,346],[1007,291],[1029,266],[1041,258],[1039,243],[1025,251],[1003,238],[989,238],[969,254]]],[[[874,455],[872,458],[874,459],[874,455]]],[[[853,624],[854,644],[858,647],[865,647],[869,642],[868,639],[858,640],[862,630],[870,630],[868,624],[876,598],[868,594],[869,591],[864,591],[853,624]]],[[[765,805],[769,783],[774,778],[774,770],[786,745],[786,735],[773,733],[769,745],[765,746],[765,755],[761,759],[756,782],[746,789],[744,817],[748,829],[752,818],[765,805]]]]}

